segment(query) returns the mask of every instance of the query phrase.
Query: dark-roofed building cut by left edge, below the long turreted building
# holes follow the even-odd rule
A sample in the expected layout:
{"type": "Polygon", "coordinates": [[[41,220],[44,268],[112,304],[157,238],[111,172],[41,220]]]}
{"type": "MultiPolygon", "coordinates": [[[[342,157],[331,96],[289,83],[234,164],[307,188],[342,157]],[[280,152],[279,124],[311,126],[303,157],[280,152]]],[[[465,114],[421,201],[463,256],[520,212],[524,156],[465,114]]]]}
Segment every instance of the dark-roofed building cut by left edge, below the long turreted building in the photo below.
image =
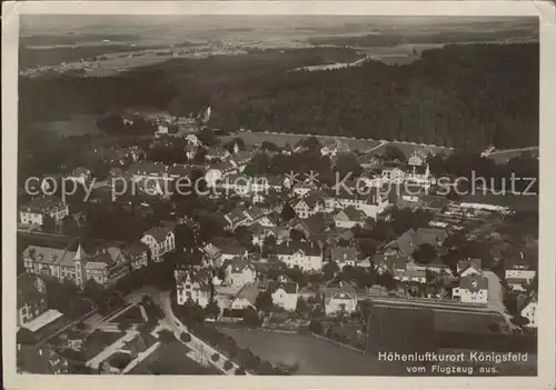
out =
{"type": "Polygon", "coordinates": [[[17,289],[17,326],[23,327],[48,310],[47,288],[42,279],[22,273],[18,277],[17,289]]]}

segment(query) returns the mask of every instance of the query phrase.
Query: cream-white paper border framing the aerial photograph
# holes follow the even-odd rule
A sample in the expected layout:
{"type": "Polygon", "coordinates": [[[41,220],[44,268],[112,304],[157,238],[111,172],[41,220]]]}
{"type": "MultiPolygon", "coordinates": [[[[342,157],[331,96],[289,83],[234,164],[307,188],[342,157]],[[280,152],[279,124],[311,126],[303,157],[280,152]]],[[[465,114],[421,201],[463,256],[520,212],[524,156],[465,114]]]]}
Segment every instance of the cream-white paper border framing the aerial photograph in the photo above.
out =
{"type": "Polygon", "coordinates": [[[26,1],[2,3],[2,338],[11,389],[554,389],[556,9],[544,1],[26,1]],[[16,373],[18,46],[21,14],[341,14],[538,17],[540,36],[539,313],[537,377],[32,376],[16,373]],[[162,382],[161,382],[162,381],[162,382]]]}

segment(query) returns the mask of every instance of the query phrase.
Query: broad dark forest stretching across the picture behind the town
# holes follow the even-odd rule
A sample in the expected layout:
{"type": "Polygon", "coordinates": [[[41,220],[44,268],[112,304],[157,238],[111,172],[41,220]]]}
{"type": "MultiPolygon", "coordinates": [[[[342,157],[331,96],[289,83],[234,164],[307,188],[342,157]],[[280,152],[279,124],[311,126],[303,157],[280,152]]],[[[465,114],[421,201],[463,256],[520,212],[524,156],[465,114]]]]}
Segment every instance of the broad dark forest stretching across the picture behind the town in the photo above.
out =
{"type": "Polygon", "coordinates": [[[368,61],[327,71],[318,50],[177,59],[119,77],[20,82],[20,118],[50,120],[146,106],[210,126],[398,139],[484,149],[538,144],[538,43],[426,50],[404,66],[368,61]]]}

